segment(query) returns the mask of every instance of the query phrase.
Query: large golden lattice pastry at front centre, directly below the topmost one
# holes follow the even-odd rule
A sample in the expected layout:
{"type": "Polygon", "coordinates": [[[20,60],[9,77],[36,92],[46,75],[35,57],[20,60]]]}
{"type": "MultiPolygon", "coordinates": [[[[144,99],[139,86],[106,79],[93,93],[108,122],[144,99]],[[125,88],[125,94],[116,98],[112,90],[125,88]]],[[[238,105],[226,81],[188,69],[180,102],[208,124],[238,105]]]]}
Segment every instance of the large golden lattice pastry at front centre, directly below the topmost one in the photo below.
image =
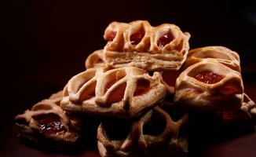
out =
{"type": "Polygon", "coordinates": [[[152,108],[166,95],[159,72],[139,68],[90,68],[64,88],[61,108],[92,115],[130,118],[152,108]]]}

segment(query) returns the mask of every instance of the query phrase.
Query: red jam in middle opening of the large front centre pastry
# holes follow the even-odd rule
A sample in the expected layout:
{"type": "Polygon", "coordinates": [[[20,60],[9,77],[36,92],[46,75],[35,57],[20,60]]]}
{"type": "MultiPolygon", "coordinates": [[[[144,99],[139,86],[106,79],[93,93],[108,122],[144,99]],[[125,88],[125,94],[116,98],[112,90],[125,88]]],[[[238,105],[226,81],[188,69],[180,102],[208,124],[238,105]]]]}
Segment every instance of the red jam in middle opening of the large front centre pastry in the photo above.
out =
{"type": "Polygon", "coordinates": [[[126,90],[126,82],[115,88],[109,95],[107,104],[113,104],[123,99],[124,92],[126,90]]]}

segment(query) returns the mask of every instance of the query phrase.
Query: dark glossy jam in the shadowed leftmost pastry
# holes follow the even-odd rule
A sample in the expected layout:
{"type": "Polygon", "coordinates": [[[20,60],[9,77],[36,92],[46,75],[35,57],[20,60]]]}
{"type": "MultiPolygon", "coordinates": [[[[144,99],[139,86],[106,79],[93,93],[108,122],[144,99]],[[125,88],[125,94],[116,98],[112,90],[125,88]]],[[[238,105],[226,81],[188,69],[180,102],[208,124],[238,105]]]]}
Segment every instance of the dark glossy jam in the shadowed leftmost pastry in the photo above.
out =
{"type": "Polygon", "coordinates": [[[55,114],[36,115],[33,117],[38,121],[38,127],[43,133],[53,134],[66,130],[64,125],[60,122],[60,117],[55,114]]]}

